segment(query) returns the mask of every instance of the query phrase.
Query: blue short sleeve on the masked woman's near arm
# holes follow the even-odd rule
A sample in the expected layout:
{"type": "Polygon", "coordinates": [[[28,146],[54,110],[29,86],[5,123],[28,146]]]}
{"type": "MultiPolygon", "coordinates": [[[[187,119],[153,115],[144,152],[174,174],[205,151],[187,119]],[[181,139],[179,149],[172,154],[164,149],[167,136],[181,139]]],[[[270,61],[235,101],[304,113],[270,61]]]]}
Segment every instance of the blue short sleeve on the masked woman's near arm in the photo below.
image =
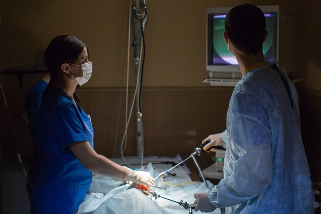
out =
{"type": "Polygon", "coordinates": [[[75,142],[88,141],[81,115],[72,103],[59,104],[53,115],[53,128],[61,150],[75,142]]]}

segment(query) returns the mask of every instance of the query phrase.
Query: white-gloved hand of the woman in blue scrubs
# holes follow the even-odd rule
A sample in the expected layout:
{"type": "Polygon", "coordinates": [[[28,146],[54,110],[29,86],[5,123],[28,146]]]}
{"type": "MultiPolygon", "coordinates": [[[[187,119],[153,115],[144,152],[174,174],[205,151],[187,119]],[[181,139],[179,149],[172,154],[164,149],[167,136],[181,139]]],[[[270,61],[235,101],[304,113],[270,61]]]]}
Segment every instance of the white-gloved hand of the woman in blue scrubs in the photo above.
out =
{"type": "Polygon", "coordinates": [[[153,186],[155,183],[155,179],[150,176],[149,172],[134,171],[128,167],[126,167],[126,176],[123,181],[132,181],[136,184],[142,184],[145,186],[153,186]]]}

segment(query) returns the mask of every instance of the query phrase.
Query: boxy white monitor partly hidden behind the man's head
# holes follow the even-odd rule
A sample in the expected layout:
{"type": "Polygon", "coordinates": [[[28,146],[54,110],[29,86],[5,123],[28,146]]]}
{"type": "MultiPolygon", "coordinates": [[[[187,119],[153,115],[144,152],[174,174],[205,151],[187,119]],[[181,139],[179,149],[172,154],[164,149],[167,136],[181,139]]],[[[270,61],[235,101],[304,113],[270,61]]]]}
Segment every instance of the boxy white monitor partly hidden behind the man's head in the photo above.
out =
{"type": "MultiPolygon", "coordinates": [[[[263,54],[270,62],[278,62],[279,7],[258,7],[264,12],[268,31],[268,37],[263,43],[263,54]]],[[[223,36],[225,16],[231,8],[207,9],[206,70],[208,78],[240,79],[236,58],[227,50],[223,36]]]]}

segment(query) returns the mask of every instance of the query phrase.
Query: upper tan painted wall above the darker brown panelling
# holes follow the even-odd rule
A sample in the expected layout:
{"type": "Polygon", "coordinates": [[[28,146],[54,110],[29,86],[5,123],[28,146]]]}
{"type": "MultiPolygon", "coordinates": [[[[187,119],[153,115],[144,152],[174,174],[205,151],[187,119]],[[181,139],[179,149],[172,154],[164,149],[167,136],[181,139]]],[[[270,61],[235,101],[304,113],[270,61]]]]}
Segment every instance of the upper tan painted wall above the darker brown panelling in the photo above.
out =
{"type": "MultiPolygon", "coordinates": [[[[0,71],[33,68],[42,59],[41,53],[53,37],[72,34],[88,44],[90,60],[93,63],[91,80],[83,88],[121,87],[122,72],[127,67],[130,2],[130,0],[96,0],[91,3],[84,0],[0,1],[0,8],[3,8],[0,24],[2,50],[0,71]],[[16,63],[15,60],[19,62],[16,63]]],[[[292,22],[295,18],[285,16],[288,11],[285,8],[297,11],[298,0],[246,2],[280,6],[279,61],[288,71],[295,70],[298,28],[295,26],[296,21],[292,22]]],[[[209,87],[208,84],[202,83],[206,77],[206,9],[232,7],[242,3],[245,2],[147,1],[144,87],[209,87]]],[[[295,17],[308,19],[309,13],[304,12],[295,17]]],[[[295,12],[290,14],[292,13],[296,14],[295,12]]],[[[132,48],[129,56],[131,68],[129,83],[133,85],[132,48]]],[[[24,77],[23,87],[30,88],[36,80],[37,77],[33,75],[24,77]]],[[[1,75],[0,83],[5,89],[17,89],[14,82],[12,76],[1,75]]]]}

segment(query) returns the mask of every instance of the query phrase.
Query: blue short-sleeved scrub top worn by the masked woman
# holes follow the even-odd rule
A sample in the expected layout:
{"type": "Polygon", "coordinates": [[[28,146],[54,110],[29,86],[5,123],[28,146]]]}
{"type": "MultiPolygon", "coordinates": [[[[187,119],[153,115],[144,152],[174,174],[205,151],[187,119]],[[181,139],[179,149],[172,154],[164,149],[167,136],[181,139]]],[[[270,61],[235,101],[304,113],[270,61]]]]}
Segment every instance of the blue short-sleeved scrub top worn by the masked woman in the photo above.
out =
{"type": "Polygon", "coordinates": [[[31,213],[74,214],[92,181],[92,172],[69,149],[75,142],[93,147],[88,115],[64,91],[48,86],[36,120],[34,160],[28,174],[31,213]]]}

